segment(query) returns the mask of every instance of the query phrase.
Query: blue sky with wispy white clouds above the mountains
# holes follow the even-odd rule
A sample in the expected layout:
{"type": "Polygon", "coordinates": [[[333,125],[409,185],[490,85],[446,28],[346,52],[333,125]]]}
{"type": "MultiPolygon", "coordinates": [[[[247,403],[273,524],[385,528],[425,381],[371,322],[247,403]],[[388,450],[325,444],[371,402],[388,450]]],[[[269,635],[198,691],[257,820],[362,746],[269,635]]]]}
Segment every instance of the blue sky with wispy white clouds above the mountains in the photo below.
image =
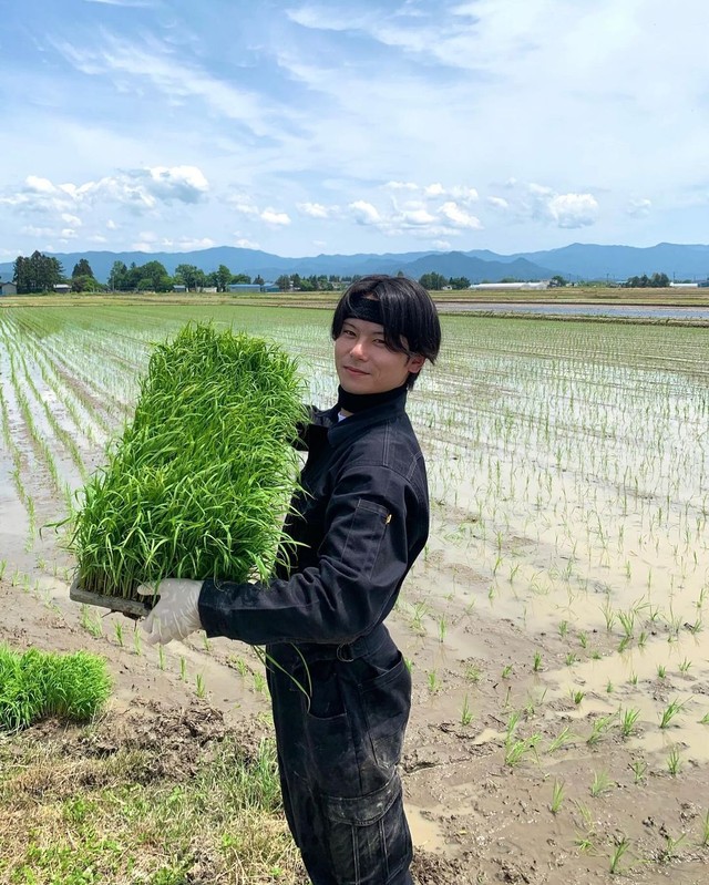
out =
{"type": "Polygon", "coordinates": [[[0,260],[709,241],[706,0],[4,0],[0,260]]]}

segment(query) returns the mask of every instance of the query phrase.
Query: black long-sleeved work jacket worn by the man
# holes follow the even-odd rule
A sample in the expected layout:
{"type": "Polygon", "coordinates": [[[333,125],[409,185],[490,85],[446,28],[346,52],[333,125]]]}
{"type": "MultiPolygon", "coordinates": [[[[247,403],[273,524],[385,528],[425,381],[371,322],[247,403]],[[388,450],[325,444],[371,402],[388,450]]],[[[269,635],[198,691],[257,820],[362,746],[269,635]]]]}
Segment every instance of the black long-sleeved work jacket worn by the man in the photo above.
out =
{"type": "Polygon", "coordinates": [[[383,621],[429,533],[425,465],[405,399],[340,422],[337,408],[315,413],[300,441],[304,491],[285,526],[297,543],[288,567],[267,585],[204,582],[207,636],[339,646],[383,621]]]}

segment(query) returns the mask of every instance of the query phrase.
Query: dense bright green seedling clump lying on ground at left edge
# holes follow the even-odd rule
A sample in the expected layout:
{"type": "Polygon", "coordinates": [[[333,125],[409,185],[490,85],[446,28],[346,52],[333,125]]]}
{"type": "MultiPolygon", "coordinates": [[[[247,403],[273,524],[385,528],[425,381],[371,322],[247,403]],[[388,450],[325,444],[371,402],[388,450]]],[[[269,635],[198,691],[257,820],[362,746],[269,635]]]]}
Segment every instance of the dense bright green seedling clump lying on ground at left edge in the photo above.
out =
{"type": "Polygon", "coordinates": [[[48,716],[89,721],[111,693],[105,661],[78,651],[55,655],[0,646],[0,730],[18,731],[48,716]]]}

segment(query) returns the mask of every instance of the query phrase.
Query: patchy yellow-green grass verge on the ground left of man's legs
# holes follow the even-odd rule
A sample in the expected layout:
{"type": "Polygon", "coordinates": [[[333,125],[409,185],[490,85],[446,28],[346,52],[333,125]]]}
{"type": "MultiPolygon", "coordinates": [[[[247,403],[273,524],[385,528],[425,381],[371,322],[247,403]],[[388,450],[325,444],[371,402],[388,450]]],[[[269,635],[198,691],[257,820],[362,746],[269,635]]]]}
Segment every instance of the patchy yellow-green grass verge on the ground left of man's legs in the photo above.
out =
{"type": "Polygon", "coordinates": [[[168,773],[157,775],[153,753],[160,749],[136,754],[122,747],[97,759],[74,747],[64,755],[58,747],[19,739],[0,748],[0,879],[304,881],[281,813],[271,740],[245,752],[226,737],[203,750],[192,774],[167,766],[168,773]]]}

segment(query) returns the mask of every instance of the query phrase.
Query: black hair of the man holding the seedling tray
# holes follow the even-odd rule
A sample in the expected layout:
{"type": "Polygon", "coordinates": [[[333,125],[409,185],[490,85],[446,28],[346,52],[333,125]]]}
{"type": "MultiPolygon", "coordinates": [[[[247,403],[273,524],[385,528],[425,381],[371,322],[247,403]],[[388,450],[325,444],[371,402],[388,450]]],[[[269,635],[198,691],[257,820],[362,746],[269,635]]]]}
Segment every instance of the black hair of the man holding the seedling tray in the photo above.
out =
{"type": "MultiPolygon", "coordinates": [[[[372,318],[369,305],[376,301],[373,319],[384,328],[384,341],[391,350],[410,356],[425,357],[431,363],[441,349],[441,323],[431,296],[420,282],[408,277],[371,274],[352,282],[340,298],[332,315],[332,340],[340,337],[342,325],[349,317],[372,318]]],[[[411,389],[417,373],[410,372],[407,387],[411,389]]]]}

